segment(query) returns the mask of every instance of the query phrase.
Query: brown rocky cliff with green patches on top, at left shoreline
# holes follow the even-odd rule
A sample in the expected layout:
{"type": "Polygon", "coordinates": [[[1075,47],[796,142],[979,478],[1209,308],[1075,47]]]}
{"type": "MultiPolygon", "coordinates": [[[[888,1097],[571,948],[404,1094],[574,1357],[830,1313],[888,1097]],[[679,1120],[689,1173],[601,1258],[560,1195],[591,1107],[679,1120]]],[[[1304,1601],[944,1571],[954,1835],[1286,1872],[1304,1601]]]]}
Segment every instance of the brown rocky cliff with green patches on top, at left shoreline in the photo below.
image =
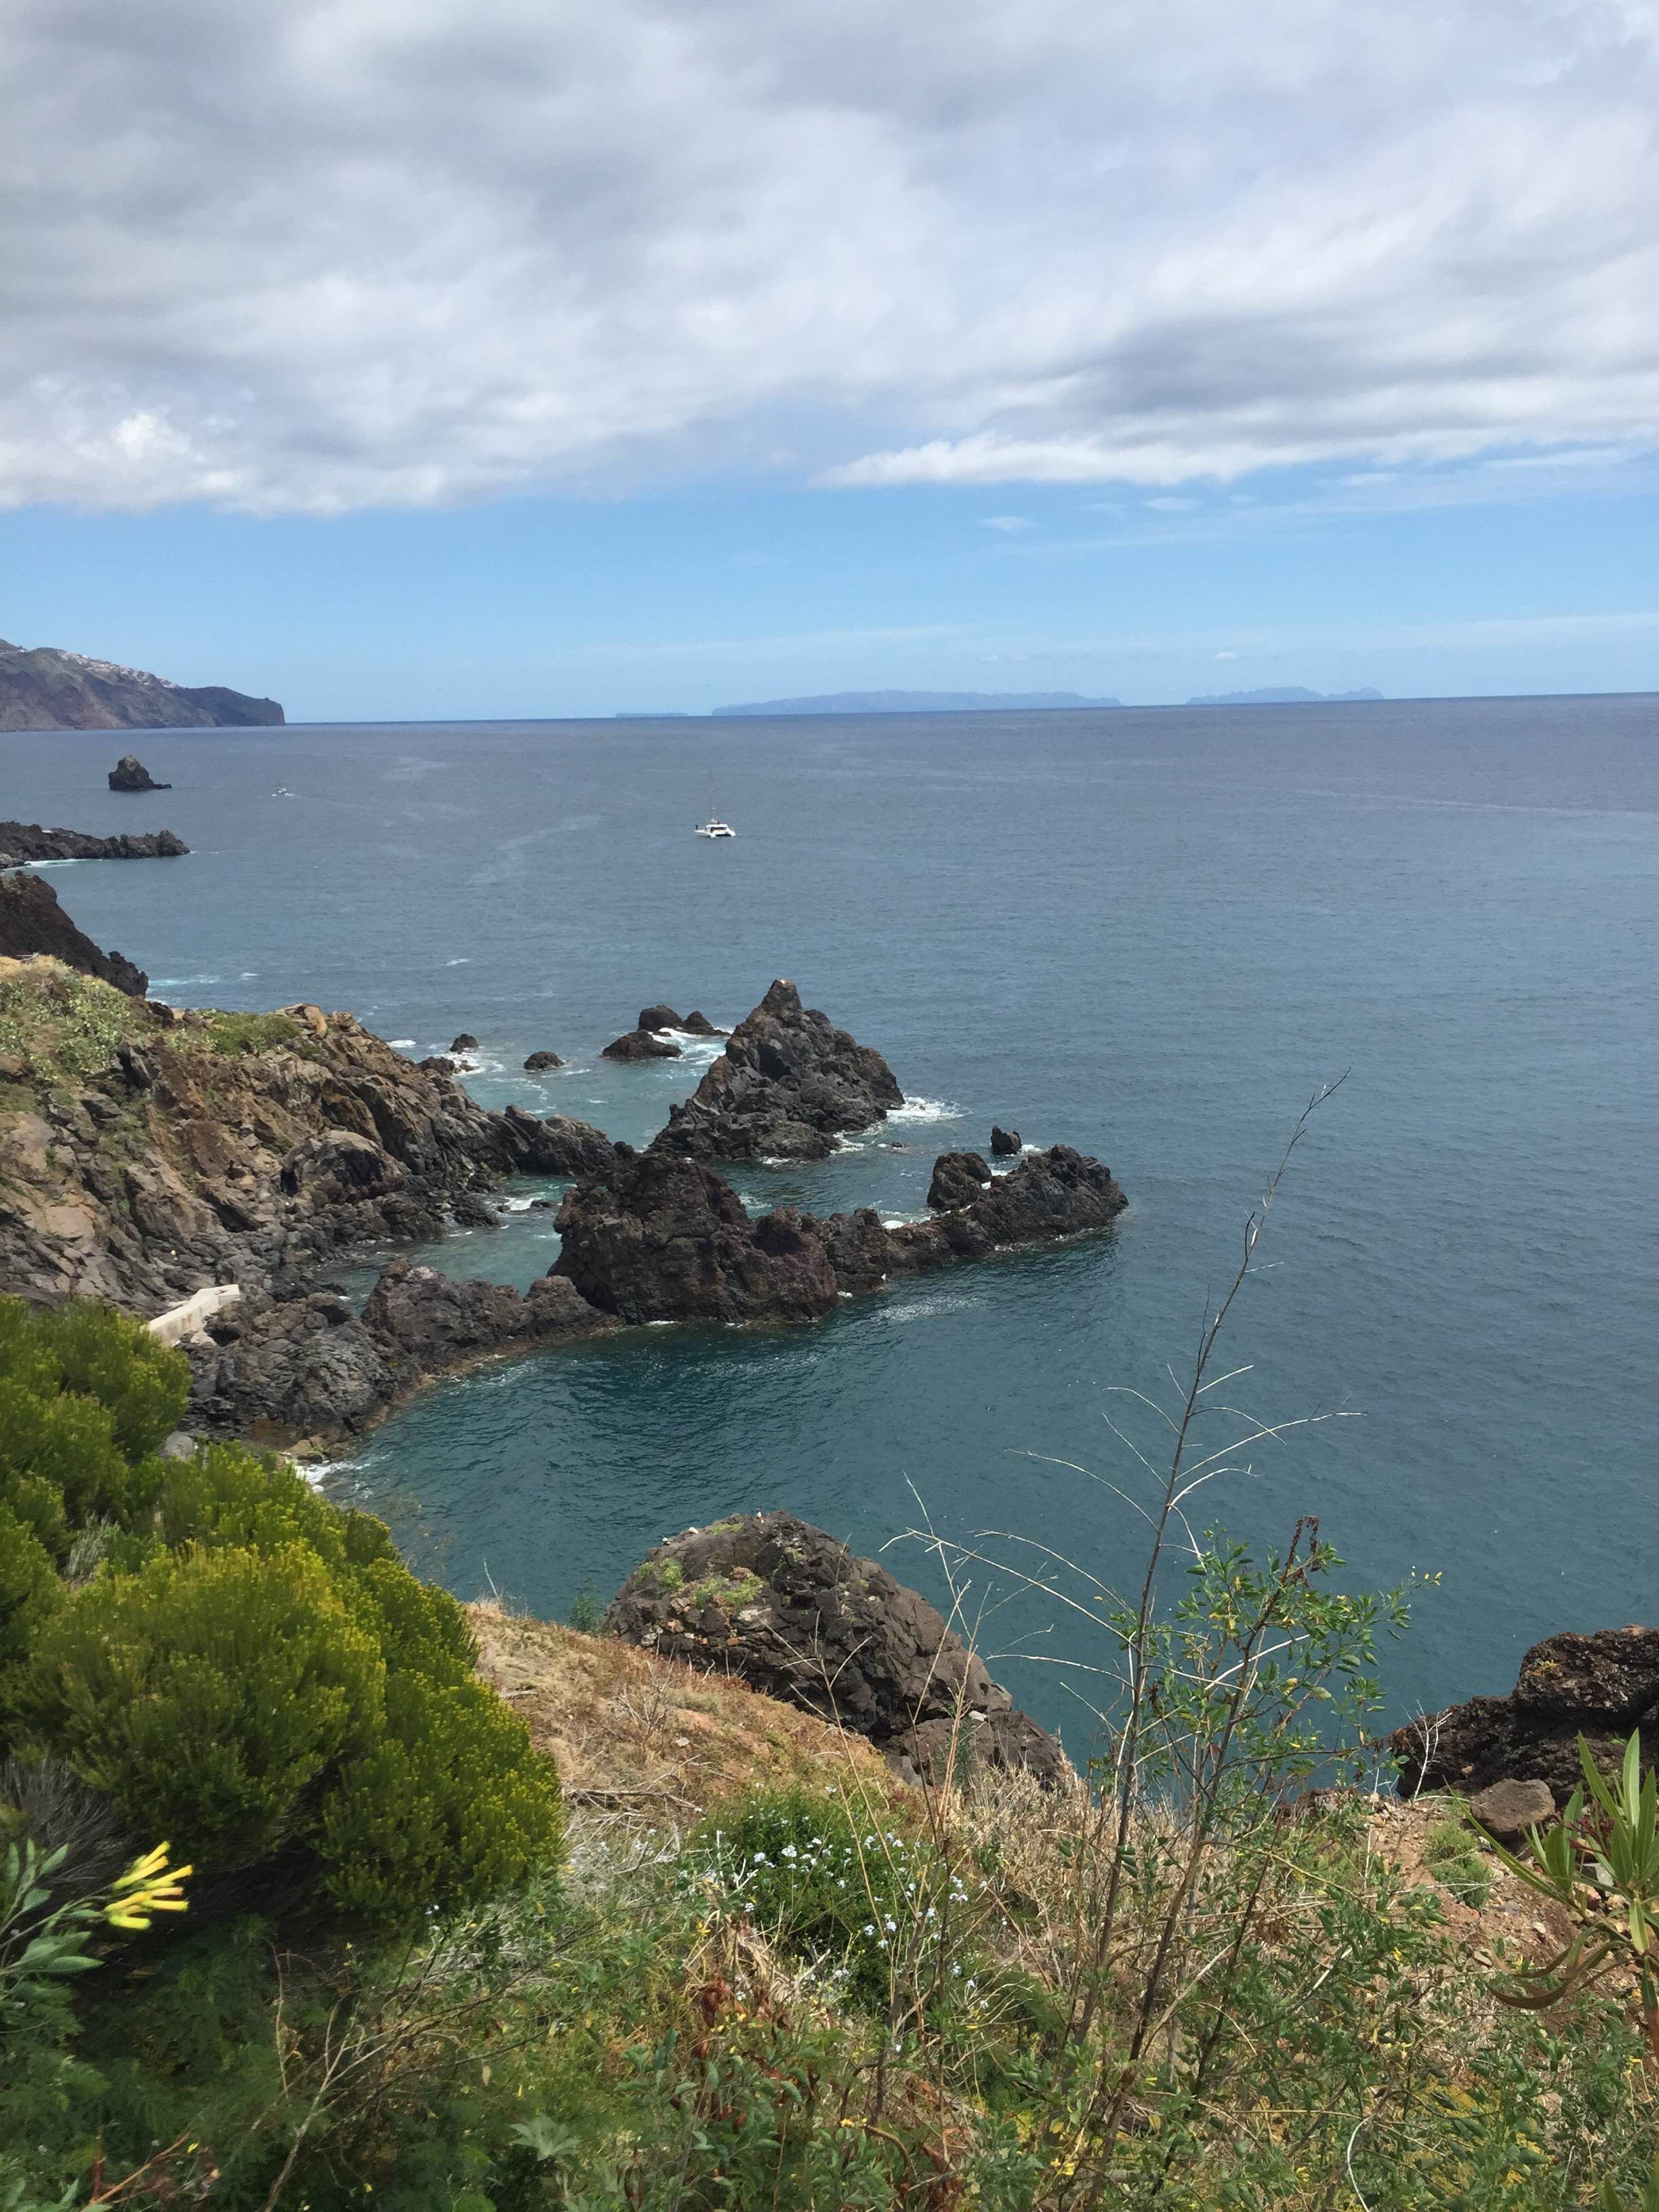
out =
{"type": "Polygon", "coordinates": [[[349,1013],[175,1013],[55,960],[0,964],[0,1283],[29,1298],[281,1294],[343,1245],[436,1234],[502,1172],[611,1157],[582,1121],[487,1113],[349,1013]]]}

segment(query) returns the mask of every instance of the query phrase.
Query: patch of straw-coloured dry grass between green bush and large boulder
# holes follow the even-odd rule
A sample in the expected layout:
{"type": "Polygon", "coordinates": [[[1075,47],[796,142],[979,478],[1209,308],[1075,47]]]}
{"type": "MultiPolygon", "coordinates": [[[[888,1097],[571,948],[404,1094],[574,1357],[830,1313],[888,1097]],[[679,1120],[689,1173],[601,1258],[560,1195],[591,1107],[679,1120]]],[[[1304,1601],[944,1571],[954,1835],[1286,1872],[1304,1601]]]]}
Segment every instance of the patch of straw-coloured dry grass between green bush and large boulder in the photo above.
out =
{"type": "Polygon", "coordinates": [[[726,1674],[480,1599],[467,1608],[478,1672],[520,1712],[564,1781],[571,1847],[684,1832],[748,1790],[902,1790],[863,1736],[761,1697],[726,1674]]]}

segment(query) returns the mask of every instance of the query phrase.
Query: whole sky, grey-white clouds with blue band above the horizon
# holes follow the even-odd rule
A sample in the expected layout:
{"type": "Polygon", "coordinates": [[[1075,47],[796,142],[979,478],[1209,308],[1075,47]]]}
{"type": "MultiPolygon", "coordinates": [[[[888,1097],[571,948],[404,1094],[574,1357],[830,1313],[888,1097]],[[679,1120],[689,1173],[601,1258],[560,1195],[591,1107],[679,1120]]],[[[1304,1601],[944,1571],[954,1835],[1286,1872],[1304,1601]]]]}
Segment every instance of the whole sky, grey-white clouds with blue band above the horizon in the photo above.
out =
{"type": "Polygon", "coordinates": [[[0,635],[1659,688],[1659,0],[2,0],[0,635]]]}

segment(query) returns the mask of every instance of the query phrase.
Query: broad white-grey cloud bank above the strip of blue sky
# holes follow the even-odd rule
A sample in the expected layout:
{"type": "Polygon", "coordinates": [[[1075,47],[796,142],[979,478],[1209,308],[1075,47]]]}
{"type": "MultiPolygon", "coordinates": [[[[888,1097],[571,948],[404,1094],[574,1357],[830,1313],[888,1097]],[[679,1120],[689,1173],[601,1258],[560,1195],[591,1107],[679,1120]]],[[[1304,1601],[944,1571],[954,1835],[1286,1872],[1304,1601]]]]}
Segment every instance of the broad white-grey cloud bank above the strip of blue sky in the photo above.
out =
{"type": "Polygon", "coordinates": [[[9,502],[1659,442],[1650,0],[11,0],[0,84],[9,502]]]}

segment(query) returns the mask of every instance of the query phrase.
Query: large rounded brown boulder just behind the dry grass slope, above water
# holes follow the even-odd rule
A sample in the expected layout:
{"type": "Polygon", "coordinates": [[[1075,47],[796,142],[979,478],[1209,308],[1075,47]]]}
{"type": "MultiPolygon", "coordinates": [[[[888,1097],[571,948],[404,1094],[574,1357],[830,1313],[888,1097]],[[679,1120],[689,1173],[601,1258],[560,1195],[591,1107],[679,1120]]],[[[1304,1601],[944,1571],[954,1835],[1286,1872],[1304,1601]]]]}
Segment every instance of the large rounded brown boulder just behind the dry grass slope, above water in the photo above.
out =
{"type": "Polygon", "coordinates": [[[1044,1783],[1068,1772],[1055,1739],[1013,1710],[920,1593],[794,1513],[668,1537],[604,1626],[869,1736],[907,1778],[945,1783],[967,1763],[1044,1783]]]}

